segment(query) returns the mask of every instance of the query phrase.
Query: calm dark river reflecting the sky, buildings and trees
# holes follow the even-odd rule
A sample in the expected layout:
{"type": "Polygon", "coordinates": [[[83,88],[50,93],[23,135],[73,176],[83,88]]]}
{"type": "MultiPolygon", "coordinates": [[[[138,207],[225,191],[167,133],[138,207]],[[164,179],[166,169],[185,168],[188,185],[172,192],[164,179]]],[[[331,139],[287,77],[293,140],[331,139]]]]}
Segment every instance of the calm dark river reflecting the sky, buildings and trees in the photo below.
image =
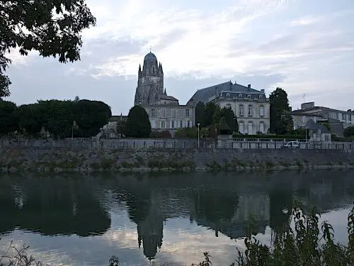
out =
{"type": "Polygon", "coordinates": [[[0,176],[0,252],[11,240],[50,265],[229,265],[250,216],[267,243],[293,199],[316,205],[346,244],[354,172],[0,176]],[[149,262],[149,260],[151,262],[149,262]]]}

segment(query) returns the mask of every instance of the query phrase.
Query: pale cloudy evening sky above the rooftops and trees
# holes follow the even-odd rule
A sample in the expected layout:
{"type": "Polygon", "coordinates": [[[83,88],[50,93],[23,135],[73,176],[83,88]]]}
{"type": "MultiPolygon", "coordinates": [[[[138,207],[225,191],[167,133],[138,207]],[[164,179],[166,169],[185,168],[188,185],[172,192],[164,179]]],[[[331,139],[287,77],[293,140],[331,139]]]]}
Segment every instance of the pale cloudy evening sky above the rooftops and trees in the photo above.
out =
{"type": "Polygon", "coordinates": [[[231,80],[266,94],[282,87],[293,110],[304,101],[354,109],[353,0],[86,2],[97,25],[82,33],[81,61],[63,65],[38,52],[11,52],[6,100],[79,96],[127,114],[151,48],[167,94],[180,104],[197,89],[231,80]]]}

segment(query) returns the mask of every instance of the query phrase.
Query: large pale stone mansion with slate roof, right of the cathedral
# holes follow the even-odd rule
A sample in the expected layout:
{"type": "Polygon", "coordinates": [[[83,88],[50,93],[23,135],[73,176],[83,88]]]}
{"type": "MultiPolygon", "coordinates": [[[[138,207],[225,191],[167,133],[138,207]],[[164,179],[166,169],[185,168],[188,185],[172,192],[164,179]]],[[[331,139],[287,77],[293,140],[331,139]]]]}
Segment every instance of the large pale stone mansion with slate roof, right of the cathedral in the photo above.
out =
{"type": "Polygon", "coordinates": [[[205,89],[199,89],[188,101],[188,105],[195,106],[199,101],[207,104],[215,102],[220,108],[231,108],[234,111],[239,132],[255,135],[268,133],[270,127],[270,103],[265,96],[264,89],[256,90],[232,82],[224,82],[205,89]]]}

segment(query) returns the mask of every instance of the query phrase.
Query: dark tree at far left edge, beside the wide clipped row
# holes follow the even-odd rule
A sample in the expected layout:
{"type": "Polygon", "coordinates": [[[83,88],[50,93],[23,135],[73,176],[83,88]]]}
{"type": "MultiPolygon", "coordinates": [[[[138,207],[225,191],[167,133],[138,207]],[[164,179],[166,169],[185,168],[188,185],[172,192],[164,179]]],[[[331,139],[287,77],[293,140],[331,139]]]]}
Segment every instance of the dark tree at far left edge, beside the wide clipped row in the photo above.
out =
{"type": "Polygon", "coordinates": [[[0,133],[6,134],[16,131],[18,116],[16,116],[16,104],[11,101],[0,100],[0,133]]]}

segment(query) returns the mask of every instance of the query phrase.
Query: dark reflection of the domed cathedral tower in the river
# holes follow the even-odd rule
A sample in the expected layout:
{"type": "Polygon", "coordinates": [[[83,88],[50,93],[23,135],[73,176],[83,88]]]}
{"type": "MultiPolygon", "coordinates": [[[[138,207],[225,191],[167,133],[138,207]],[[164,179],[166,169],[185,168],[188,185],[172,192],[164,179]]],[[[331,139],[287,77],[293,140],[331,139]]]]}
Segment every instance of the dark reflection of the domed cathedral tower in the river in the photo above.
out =
{"type": "Polygon", "coordinates": [[[153,259],[157,253],[157,248],[161,248],[164,230],[164,221],[159,210],[152,207],[144,221],[137,223],[137,234],[139,248],[144,248],[144,255],[153,259]]]}

